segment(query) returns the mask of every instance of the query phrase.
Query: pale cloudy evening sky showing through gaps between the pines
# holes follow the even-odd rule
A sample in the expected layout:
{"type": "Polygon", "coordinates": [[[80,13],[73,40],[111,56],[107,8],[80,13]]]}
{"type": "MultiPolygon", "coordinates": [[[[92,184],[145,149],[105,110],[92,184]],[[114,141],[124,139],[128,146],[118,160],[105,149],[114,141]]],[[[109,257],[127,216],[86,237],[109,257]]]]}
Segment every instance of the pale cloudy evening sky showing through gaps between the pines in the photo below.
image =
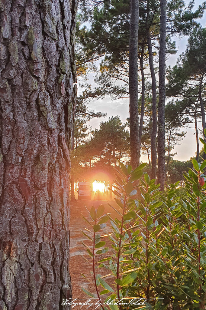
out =
{"type": "MultiPolygon", "coordinates": [[[[189,1],[186,1],[188,3],[189,1]]],[[[200,0],[195,1],[195,7],[193,10],[195,10],[199,4],[202,3],[200,0]]],[[[204,16],[199,20],[199,22],[202,24],[203,27],[205,27],[206,23],[206,12],[204,13],[204,16]]],[[[173,67],[176,64],[176,60],[178,56],[185,51],[186,45],[187,45],[187,37],[183,39],[179,39],[177,37],[173,38],[173,41],[176,42],[176,49],[177,54],[171,55],[170,58],[167,60],[166,66],[170,65],[173,67]]],[[[93,81],[93,75],[91,74],[88,81],[93,87],[97,86],[93,81]]],[[[100,111],[107,113],[107,116],[104,118],[93,118],[89,123],[88,126],[90,126],[92,129],[99,129],[99,124],[101,120],[107,121],[109,117],[118,115],[121,119],[121,121],[124,123],[126,122],[127,117],[129,117],[129,98],[126,99],[118,99],[118,100],[111,100],[108,96],[106,96],[104,99],[98,99],[96,101],[91,101],[88,105],[89,108],[95,111],[100,111]]],[[[190,124],[190,127],[192,127],[193,124],[190,124]]],[[[198,123],[198,127],[201,129],[201,122],[198,123]]],[[[196,138],[195,138],[195,129],[194,128],[183,128],[182,130],[187,131],[187,134],[185,138],[183,138],[182,141],[178,143],[174,147],[173,152],[177,152],[177,155],[174,156],[175,160],[181,160],[181,161],[187,161],[190,159],[190,157],[195,156],[196,151],[196,138]]],[[[202,148],[201,142],[200,142],[200,149],[202,148]]],[[[141,156],[141,161],[147,161],[147,156],[141,156]]]]}

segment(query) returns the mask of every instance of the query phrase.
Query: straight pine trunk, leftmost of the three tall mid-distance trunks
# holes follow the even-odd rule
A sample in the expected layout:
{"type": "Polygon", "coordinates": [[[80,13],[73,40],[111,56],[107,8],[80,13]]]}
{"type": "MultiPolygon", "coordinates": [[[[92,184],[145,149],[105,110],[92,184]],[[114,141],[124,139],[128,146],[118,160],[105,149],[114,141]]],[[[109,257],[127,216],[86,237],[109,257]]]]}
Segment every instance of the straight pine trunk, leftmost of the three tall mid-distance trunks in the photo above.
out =
{"type": "Polygon", "coordinates": [[[138,30],[139,0],[131,0],[129,44],[129,92],[130,92],[130,149],[131,166],[139,166],[139,117],[138,117],[138,30]]]}

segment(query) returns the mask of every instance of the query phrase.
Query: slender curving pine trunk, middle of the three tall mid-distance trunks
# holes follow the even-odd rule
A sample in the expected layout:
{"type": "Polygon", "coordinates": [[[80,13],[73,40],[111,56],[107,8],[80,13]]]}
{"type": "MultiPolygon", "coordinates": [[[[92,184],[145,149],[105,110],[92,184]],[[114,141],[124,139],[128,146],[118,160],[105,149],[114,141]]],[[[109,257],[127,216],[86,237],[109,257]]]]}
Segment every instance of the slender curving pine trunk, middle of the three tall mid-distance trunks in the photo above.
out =
{"type": "Polygon", "coordinates": [[[149,17],[149,0],[147,2],[147,44],[149,53],[149,67],[152,79],[152,133],[151,133],[151,161],[152,161],[152,179],[156,178],[157,171],[157,148],[156,148],[156,136],[157,136],[157,91],[156,91],[156,79],[153,65],[152,55],[152,43],[148,26],[149,17]]]}

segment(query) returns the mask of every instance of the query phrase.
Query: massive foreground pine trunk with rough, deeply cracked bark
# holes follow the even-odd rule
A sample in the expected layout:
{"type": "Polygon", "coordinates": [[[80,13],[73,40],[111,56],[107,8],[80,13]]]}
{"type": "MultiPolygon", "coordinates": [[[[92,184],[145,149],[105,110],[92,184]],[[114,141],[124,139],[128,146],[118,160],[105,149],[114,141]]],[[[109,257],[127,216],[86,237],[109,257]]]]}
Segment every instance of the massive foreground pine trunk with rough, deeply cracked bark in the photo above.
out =
{"type": "Polygon", "coordinates": [[[0,309],[62,309],[76,2],[0,5],[0,309]]]}

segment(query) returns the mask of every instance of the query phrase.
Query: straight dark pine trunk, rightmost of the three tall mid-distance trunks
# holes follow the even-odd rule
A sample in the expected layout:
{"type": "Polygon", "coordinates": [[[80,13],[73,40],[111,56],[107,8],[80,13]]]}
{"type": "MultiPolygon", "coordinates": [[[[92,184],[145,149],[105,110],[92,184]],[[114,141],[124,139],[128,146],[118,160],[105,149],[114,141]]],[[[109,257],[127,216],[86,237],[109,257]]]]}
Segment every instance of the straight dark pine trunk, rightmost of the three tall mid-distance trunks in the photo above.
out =
{"type": "Polygon", "coordinates": [[[159,102],[158,102],[158,131],[157,183],[161,190],[165,185],[165,57],[166,57],[166,0],[160,0],[160,53],[159,53],[159,102]]]}

